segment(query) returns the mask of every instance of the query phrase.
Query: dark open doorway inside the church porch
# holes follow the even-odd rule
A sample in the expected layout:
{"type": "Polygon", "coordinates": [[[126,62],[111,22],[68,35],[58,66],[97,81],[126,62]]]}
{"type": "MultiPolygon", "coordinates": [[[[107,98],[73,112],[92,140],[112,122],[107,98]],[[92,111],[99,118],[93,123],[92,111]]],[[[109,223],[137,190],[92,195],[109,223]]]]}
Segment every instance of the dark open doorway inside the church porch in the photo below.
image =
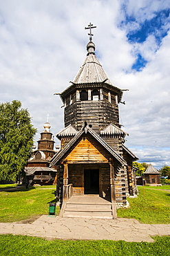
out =
{"type": "Polygon", "coordinates": [[[84,170],[85,194],[99,194],[99,170],[84,170]]]}

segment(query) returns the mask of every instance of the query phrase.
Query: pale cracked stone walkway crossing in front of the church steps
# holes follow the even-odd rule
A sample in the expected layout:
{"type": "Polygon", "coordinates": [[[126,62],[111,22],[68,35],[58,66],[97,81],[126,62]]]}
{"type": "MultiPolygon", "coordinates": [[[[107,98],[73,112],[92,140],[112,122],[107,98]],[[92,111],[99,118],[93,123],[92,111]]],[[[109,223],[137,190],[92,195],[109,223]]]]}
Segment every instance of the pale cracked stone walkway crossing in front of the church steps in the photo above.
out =
{"type": "Polygon", "coordinates": [[[83,219],[42,215],[31,224],[0,223],[0,235],[30,235],[46,239],[109,239],[152,242],[151,236],[170,235],[170,224],[142,224],[136,219],[83,219]]]}

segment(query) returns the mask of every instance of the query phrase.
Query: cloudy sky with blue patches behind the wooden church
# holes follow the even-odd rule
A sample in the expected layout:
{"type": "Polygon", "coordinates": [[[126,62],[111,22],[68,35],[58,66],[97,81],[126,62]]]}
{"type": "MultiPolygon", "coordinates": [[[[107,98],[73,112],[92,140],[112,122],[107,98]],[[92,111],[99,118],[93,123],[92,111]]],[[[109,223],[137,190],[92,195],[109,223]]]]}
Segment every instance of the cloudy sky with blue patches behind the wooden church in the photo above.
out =
{"type": "MultiPolygon", "coordinates": [[[[0,102],[20,100],[40,138],[63,129],[59,95],[83,64],[91,22],[114,86],[125,145],[140,163],[170,166],[170,0],[0,0],[0,102]]],[[[56,141],[58,144],[59,141],[56,141]]]]}

